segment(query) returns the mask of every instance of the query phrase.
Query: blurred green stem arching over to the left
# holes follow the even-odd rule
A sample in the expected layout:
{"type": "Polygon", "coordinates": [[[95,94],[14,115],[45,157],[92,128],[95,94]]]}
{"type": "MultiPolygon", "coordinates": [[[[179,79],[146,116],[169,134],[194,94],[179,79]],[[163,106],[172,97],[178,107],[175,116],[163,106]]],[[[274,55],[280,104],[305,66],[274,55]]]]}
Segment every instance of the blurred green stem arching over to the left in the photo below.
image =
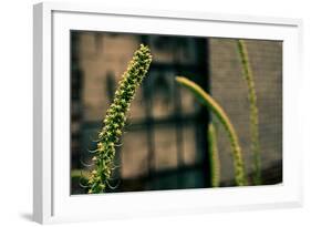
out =
{"type": "Polygon", "coordinates": [[[231,124],[225,111],[209,94],[207,94],[200,86],[198,86],[193,81],[183,76],[176,76],[176,81],[182,85],[186,86],[187,89],[189,89],[196,95],[196,97],[198,97],[198,100],[204,105],[206,105],[221,122],[229,136],[231,148],[232,148],[236,183],[239,186],[247,185],[247,179],[245,176],[245,165],[242,161],[242,154],[241,154],[238,136],[234,128],[234,125],[231,124]]]}

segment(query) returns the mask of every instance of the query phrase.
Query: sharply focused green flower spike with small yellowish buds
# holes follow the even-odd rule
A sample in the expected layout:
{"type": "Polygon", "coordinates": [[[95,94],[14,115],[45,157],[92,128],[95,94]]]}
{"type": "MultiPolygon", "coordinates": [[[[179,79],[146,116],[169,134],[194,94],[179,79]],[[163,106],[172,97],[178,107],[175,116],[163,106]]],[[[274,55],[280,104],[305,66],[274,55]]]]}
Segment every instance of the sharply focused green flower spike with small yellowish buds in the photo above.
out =
{"type": "Polygon", "coordinates": [[[151,62],[151,50],[141,44],[118,82],[113,103],[104,118],[104,126],[99,132],[97,148],[93,157],[95,167],[89,178],[89,194],[103,193],[110,185],[108,180],[114,168],[115,145],[122,135],[131,101],[145,78],[151,62]]]}

